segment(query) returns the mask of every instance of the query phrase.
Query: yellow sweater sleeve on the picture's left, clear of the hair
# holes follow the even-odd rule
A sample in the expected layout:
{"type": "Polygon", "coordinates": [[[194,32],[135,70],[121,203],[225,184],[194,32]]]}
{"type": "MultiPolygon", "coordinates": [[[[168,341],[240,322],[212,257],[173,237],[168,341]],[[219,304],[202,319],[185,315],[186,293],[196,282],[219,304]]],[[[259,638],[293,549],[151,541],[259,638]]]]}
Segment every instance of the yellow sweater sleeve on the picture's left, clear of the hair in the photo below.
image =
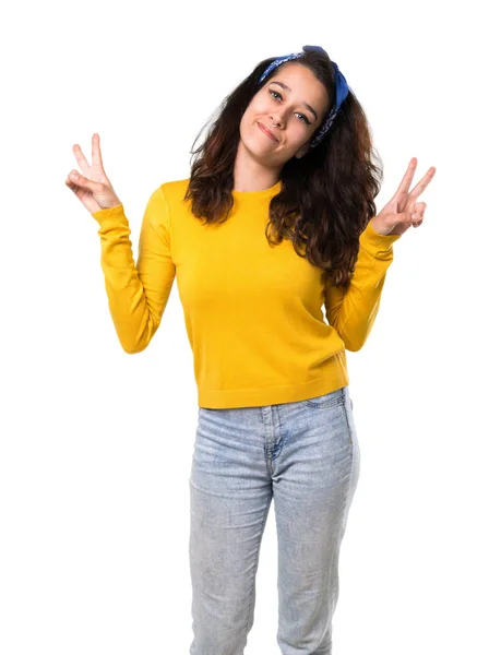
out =
{"type": "Polygon", "coordinates": [[[160,187],[151,195],[141,225],[136,264],[122,203],[92,216],[100,226],[100,263],[117,335],[126,353],[140,353],[159,326],[175,278],[168,201],[160,187]]]}

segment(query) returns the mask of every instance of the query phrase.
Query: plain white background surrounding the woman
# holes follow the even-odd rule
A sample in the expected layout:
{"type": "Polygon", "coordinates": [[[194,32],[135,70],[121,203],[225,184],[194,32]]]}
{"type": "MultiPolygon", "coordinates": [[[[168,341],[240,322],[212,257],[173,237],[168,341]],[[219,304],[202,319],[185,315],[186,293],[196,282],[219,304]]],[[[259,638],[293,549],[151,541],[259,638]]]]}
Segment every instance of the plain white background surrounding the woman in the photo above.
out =
{"type": "MultiPolygon", "coordinates": [[[[163,182],[259,61],[321,45],[384,164],[433,181],[347,353],[361,473],[334,655],[489,652],[482,3],[24,2],[2,9],[0,652],[183,655],[198,403],[177,285],[148,348],[108,311],[98,225],[64,186],[100,134],[133,250],[163,182]]],[[[269,515],[247,655],[277,654],[269,515]]],[[[201,655],[201,654],[199,654],[201,655]]]]}

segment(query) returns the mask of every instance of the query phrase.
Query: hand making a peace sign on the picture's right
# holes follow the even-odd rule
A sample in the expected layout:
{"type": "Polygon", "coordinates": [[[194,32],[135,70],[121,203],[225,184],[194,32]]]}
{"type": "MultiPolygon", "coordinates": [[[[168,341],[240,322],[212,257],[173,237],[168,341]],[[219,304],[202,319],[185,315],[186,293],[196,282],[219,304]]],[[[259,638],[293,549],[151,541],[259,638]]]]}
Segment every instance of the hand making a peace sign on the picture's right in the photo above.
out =
{"type": "Polygon", "coordinates": [[[417,164],[418,160],[413,157],[392,200],[370,221],[370,225],[379,235],[403,235],[412,225],[414,227],[421,225],[427,204],[426,202],[417,202],[417,199],[431,182],[437,169],[432,166],[422,180],[409,192],[417,164]]]}

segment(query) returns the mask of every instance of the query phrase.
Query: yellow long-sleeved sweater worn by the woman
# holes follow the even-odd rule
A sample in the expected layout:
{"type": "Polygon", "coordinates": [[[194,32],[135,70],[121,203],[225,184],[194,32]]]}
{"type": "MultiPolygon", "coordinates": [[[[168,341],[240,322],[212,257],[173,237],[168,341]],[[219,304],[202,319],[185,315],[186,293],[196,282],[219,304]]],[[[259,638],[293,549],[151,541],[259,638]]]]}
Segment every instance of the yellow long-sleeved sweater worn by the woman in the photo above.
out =
{"type": "Polygon", "coordinates": [[[359,350],[372,329],[399,236],[379,235],[368,224],[345,294],[324,288],[321,269],[289,240],[269,245],[269,203],[279,181],[264,191],[232,191],[229,218],[212,225],[183,201],[188,182],[166,182],[151,195],[136,264],[122,203],[92,214],[122,348],[140,353],[150,344],[176,276],[199,406],[290,403],[349,384],[345,348],[359,350]]]}

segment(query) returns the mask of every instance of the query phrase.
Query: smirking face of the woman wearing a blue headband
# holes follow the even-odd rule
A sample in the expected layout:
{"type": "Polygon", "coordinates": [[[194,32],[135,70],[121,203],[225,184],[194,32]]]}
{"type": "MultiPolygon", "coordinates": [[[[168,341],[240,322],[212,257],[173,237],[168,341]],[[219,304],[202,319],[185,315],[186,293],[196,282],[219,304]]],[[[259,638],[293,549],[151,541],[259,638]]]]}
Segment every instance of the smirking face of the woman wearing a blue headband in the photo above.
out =
{"type": "Polygon", "coordinates": [[[241,146],[261,164],[282,167],[291,157],[306,154],[308,141],[322,124],[327,109],[326,90],[314,73],[297,62],[283,63],[244,111],[241,146]]]}

